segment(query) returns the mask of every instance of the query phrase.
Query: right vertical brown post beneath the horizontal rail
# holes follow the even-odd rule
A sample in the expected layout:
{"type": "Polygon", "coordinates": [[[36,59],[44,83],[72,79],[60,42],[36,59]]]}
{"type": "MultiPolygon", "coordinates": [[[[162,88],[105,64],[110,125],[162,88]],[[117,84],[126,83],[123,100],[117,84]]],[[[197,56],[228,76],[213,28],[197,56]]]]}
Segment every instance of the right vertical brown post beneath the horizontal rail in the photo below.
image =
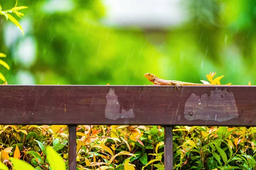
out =
{"type": "Polygon", "coordinates": [[[164,167],[173,170],[172,126],[164,127],[164,167]]]}

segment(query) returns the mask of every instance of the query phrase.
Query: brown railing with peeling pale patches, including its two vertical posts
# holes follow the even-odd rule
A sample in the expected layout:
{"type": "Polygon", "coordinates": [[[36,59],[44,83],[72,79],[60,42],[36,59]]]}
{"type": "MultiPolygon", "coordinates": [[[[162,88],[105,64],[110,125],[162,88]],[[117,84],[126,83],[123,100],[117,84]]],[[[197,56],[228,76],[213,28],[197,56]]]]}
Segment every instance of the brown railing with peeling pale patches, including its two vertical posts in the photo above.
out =
{"type": "Polygon", "coordinates": [[[173,169],[175,125],[256,126],[256,86],[1,85],[0,125],[68,125],[76,170],[76,125],[161,125],[173,169]]]}

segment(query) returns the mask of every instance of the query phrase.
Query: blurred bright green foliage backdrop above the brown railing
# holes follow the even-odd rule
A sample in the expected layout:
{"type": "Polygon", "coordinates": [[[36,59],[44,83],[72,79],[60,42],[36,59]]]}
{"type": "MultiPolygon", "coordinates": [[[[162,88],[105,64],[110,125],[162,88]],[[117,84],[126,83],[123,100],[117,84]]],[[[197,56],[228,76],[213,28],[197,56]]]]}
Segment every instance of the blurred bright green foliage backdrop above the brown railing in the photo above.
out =
{"type": "MultiPolygon", "coordinates": [[[[186,0],[186,22],[156,29],[105,25],[100,0],[72,0],[70,11],[49,11],[49,1],[19,0],[29,6],[16,17],[24,37],[0,16],[0,51],[11,68],[0,72],[9,84],[149,85],[147,72],[200,83],[210,71],[225,76],[222,84],[256,84],[255,0],[186,0]],[[21,47],[33,59],[24,62],[21,47]]],[[[5,10],[15,0],[0,4],[5,10]]]]}

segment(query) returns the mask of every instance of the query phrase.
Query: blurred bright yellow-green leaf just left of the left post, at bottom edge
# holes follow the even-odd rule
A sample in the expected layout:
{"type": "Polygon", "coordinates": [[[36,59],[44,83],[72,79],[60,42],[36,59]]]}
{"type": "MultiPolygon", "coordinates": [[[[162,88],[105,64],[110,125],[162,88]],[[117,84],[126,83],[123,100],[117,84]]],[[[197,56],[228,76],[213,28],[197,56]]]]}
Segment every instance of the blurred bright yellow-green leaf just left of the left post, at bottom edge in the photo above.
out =
{"type": "Polygon", "coordinates": [[[51,170],[66,170],[65,163],[61,156],[52,147],[46,148],[47,160],[49,161],[51,170]]]}

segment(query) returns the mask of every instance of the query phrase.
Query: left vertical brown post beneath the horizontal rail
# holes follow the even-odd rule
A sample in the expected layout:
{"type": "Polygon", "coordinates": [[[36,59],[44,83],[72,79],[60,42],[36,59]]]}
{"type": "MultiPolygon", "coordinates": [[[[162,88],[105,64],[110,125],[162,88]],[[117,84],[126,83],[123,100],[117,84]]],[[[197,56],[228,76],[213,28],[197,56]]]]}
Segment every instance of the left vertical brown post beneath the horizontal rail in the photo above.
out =
{"type": "Polygon", "coordinates": [[[68,126],[68,170],[76,170],[76,125],[68,126]]]}

